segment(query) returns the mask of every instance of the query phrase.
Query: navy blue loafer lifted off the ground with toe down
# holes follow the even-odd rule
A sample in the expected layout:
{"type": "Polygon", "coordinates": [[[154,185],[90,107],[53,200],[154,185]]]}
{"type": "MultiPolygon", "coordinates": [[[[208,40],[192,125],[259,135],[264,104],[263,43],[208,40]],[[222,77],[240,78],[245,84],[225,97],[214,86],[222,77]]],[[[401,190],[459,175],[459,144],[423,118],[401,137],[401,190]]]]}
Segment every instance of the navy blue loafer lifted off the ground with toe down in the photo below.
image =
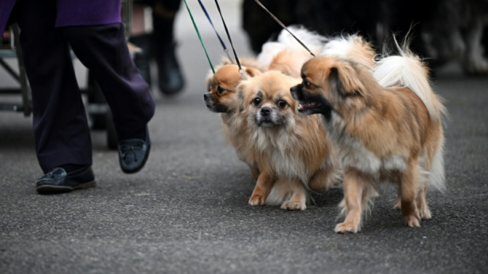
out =
{"type": "Polygon", "coordinates": [[[146,126],[146,139],[127,139],[122,140],[117,145],[119,151],[120,168],[124,173],[136,173],[140,171],[149,157],[151,151],[151,141],[149,131],[146,126]]]}

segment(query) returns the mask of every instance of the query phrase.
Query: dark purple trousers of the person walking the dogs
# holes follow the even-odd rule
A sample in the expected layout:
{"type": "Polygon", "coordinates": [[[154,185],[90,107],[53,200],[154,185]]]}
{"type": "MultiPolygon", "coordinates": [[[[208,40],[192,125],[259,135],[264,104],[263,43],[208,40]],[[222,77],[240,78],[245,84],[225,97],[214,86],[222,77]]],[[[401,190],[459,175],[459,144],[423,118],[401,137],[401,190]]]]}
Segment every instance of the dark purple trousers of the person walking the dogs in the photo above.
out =
{"type": "Polygon", "coordinates": [[[129,56],[123,25],[55,27],[53,1],[21,3],[17,24],[32,89],[37,159],[44,172],[91,165],[90,131],[69,46],[99,83],[120,140],[131,138],[154,115],[153,97],[129,56]]]}

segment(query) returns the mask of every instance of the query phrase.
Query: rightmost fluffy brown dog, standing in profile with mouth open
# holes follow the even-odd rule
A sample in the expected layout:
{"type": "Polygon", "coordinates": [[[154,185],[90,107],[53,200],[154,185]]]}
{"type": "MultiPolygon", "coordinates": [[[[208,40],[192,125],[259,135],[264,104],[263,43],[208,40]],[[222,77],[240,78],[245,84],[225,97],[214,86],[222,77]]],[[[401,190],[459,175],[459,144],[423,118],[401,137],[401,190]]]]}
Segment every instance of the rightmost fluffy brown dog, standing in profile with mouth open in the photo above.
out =
{"type": "Polygon", "coordinates": [[[337,145],[346,217],[336,232],[361,229],[362,213],[382,181],[398,185],[403,217],[411,227],[430,217],[419,189],[445,188],[445,109],[429,86],[425,66],[404,49],[375,70],[376,79],[348,59],[318,57],[303,66],[302,84],[291,88],[300,112],[322,114],[337,145]]]}

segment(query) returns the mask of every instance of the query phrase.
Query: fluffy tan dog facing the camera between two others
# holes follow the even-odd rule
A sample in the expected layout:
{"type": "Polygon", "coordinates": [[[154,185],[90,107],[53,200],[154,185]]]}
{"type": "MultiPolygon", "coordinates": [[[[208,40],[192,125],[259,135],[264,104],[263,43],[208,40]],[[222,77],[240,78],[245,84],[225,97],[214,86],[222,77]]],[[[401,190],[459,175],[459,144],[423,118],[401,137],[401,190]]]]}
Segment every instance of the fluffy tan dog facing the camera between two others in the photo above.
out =
{"type": "Polygon", "coordinates": [[[335,156],[320,119],[299,114],[298,103],[289,93],[289,87],[299,81],[267,71],[237,87],[241,102],[238,128],[246,130],[234,137],[241,138],[260,171],[250,205],[267,203],[276,182],[275,192],[287,197],[281,208],[304,210],[308,188],[327,189],[337,179],[335,156]]]}

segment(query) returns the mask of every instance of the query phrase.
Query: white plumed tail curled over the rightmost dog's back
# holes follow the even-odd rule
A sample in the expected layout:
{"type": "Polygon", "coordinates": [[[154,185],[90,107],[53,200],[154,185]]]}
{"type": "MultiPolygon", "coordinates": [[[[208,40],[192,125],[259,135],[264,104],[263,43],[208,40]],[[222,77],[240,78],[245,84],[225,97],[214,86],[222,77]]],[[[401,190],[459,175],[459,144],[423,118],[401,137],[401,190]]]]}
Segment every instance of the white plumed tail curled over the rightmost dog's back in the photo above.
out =
{"type": "MultiPolygon", "coordinates": [[[[397,42],[395,40],[395,42],[397,42]]],[[[374,68],[374,78],[384,87],[404,86],[410,88],[422,100],[430,119],[441,121],[446,114],[442,100],[433,92],[428,80],[428,68],[407,46],[397,43],[399,56],[383,57],[374,68]]]]}

